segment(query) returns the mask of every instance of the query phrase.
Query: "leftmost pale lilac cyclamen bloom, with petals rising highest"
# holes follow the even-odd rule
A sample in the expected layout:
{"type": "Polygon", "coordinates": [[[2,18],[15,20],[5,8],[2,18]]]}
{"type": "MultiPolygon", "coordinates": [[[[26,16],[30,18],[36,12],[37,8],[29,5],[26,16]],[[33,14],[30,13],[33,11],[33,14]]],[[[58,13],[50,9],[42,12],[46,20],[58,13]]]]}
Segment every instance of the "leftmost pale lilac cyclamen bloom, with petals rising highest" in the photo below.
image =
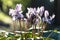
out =
{"type": "Polygon", "coordinates": [[[9,15],[12,16],[13,20],[17,20],[17,19],[22,19],[24,18],[24,15],[22,14],[22,5],[21,4],[17,4],[15,10],[14,9],[9,9],[9,15]]]}

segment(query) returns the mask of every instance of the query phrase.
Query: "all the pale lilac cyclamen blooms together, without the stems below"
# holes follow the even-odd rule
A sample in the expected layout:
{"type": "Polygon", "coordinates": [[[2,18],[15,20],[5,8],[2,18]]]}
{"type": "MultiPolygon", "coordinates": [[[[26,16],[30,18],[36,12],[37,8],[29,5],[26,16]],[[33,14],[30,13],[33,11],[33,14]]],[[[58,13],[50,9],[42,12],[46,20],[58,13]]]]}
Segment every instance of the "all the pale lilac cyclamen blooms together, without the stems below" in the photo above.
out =
{"type": "Polygon", "coordinates": [[[37,24],[39,20],[42,22],[47,22],[51,24],[51,21],[54,19],[55,15],[49,16],[49,11],[45,10],[44,6],[37,8],[27,8],[28,12],[26,17],[22,14],[22,4],[17,4],[15,9],[9,9],[9,15],[12,16],[12,19],[15,21],[17,19],[26,19],[32,21],[34,24],[37,24]]]}

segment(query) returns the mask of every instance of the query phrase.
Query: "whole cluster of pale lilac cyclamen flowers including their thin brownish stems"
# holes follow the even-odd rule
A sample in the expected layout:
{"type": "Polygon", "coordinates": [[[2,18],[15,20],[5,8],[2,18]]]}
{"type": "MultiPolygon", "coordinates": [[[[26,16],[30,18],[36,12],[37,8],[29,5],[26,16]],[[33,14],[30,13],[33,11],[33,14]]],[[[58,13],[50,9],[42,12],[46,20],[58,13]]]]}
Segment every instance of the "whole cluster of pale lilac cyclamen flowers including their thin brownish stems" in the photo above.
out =
{"type": "MultiPolygon", "coordinates": [[[[21,21],[25,22],[25,31],[27,31],[27,27],[29,25],[33,26],[33,29],[36,29],[36,25],[40,27],[40,23],[42,23],[42,33],[44,31],[44,23],[51,24],[51,21],[55,18],[55,15],[49,15],[49,11],[45,10],[44,6],[37,7],[37,8],[27,8],[28,12],[26,13],[26,18],[22,14],[22,4],[17,4],[15,9],[9,9],[9,15],[12,16],[13,21],[18,20],[20,24],[20,30],[22,31],[21,21]]],[[[14,25],[15,27],[15,25],[14,25]]],[[[14,29],[15,31],[15,29],[14,29]]],[[[35,31],[35,30],[33,30],[35,31]]],[[[34,32],[33,36],[34,36],[34,32]]]]}

